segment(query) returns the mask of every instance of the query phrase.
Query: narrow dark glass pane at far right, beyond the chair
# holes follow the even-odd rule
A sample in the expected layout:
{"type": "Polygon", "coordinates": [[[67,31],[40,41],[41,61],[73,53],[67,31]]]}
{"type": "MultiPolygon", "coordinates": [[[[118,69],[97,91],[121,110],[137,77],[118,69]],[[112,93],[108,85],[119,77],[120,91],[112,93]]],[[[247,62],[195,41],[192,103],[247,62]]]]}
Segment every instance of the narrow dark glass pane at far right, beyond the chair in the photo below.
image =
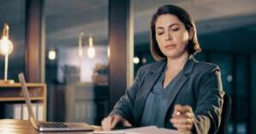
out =
{"type": "MultiPolygon", "coordinates": [[[[248,118],[249,118],[249,102],[248,96],[250,77],[248,75],[249,67],[247,66],[247,57],[245,55],[239,55],[236,57],[236,90],[234,91],[234,102],[236,105],[233,109],[236,110],[234,114],[234,120],[236,120],[237,133],[247,133],[248,118]],[[242,78],[242,79],[241,79],[242,78]]],[[[250,72],[251,74],[251,72],[250,72]]]]}

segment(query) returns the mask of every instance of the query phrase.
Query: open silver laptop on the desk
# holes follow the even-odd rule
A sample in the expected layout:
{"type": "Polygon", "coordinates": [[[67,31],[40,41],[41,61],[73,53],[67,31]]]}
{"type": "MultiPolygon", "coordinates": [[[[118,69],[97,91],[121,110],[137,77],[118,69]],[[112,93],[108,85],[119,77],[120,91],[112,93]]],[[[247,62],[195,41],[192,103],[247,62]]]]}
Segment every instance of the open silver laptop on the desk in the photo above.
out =
{"type": "Polygon", "coordinates": [[[26,87],[26,81],[22,73],[19,74],[19,80],[22,87],[22,92],[26,100],[26,107],[29,114],[29,120],[32,126],[38,131],[94,131],[94,128],[86,123],[73,122],[43,122],[37,121],[32,112],[31,99],[26,87]]]}

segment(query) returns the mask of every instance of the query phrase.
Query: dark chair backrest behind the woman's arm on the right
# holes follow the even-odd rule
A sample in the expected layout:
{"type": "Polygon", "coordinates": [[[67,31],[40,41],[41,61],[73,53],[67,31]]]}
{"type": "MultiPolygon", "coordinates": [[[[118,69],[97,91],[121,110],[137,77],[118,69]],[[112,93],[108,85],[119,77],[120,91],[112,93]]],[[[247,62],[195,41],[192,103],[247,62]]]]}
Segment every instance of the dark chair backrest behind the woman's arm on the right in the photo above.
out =
{"type": "Polygon", "coordinates": [[[218,128],[218,134],[227,134],[229,127],[229,120],[231,114],[231,98],[227,93],[224,94],[224,104],[221,113],[221,122],[218,128]]]}

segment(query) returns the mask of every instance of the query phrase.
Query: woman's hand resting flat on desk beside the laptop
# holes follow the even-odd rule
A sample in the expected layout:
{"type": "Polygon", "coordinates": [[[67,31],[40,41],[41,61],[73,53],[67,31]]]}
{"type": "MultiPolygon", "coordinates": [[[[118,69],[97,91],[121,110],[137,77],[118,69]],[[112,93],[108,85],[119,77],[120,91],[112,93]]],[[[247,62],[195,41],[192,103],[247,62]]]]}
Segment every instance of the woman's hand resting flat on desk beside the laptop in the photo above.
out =
{"type": "Polygon", "coordinates": [[[110,131],[119,123],[123,126],[131,126],[131,123],[128,120],[125,120],[118,114],[113,114],[102,120],[102,129],[104,131],[110,131]]]}

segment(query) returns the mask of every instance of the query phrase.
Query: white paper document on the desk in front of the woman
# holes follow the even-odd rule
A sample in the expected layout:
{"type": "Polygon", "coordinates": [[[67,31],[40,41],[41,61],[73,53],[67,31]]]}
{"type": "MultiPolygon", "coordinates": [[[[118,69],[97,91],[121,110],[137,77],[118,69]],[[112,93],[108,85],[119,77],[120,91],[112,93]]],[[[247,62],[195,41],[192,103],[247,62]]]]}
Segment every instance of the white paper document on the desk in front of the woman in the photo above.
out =
{"type": "Polygon", "coordinates": [[[144,126],[116,131],[93,131],[92,134],[177,134],[176,130],[158,128],[157,126],[144,126]]]}

